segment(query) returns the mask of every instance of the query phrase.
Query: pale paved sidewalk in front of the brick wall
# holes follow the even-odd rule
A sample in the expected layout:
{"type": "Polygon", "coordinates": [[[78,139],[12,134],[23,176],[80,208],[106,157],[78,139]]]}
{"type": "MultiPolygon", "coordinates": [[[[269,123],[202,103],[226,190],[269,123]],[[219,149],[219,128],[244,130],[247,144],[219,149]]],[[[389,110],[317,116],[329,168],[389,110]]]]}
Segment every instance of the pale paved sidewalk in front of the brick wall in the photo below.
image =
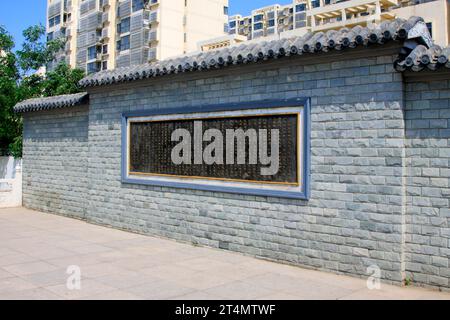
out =
{"type": "Polygon", "coordinates": [[[90,225],[0,209],[0,299],[450,299],[90,225]],[[81,290],[68,290],[68,266],[81,290]]]}

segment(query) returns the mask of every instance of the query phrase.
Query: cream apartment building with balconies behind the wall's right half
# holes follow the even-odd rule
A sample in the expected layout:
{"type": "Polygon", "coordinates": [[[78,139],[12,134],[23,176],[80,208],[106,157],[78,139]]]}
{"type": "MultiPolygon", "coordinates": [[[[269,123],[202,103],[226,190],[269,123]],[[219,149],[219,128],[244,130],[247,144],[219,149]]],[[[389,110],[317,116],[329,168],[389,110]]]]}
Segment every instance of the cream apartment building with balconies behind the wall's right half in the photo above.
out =
{"type": "Polygon", "coordinates": [[[448,45],[449,8],[448,0],[293,0],[284,6],[274,4],[255,9],[249,16],[231,16],[228,29],[230,35],[251,40],[367,25],[394,18],[408,19],[417,15],[425,19],[436,43],[448,45]]]}

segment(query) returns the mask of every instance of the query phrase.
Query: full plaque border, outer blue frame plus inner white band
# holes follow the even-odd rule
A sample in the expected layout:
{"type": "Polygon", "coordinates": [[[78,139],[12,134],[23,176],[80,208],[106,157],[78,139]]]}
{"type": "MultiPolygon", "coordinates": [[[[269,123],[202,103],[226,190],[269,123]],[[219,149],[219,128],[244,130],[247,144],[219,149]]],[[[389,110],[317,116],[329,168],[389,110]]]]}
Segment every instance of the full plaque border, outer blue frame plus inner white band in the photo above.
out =
{"type": "Polygon", "coordinates": [[[310,99],[308,98],[126,112],[122,114],[122,183],[307,200],[310,196],[310,129],[310,99]],[[130,122],[292,113],[299,114],[298,130],[300,138],[297,141],[297,173],[300,183],[298,185],[277,185],[263,182],[256,185],[241,181],[227,181],[226,179],[210,180],[207,178],[192,179],[189,177],[139,175],[129,171],[130,122]]]}

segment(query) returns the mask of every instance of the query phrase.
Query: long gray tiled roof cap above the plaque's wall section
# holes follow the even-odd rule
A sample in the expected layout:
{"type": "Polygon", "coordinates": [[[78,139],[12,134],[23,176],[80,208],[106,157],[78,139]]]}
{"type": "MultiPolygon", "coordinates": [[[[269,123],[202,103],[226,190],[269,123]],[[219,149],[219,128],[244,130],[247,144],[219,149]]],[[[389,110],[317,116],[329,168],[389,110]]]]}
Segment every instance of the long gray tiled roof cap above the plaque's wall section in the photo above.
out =
{"type": "Polygon", "coordinates": [[[220,50],[197,52],[159,62],[102,71],[85,77],[80,81],[80,85],[102,86],[168,74],[218,69],[284,56],[343,50],[375,43],[385,44],[392,40],[404,41],[408,31],[419,21],[423,22],[423,19],[420,17],[411,17],[408,20],[394,19],[372,27],[355,26],[272,41],[244,42],[220,50]]]}

